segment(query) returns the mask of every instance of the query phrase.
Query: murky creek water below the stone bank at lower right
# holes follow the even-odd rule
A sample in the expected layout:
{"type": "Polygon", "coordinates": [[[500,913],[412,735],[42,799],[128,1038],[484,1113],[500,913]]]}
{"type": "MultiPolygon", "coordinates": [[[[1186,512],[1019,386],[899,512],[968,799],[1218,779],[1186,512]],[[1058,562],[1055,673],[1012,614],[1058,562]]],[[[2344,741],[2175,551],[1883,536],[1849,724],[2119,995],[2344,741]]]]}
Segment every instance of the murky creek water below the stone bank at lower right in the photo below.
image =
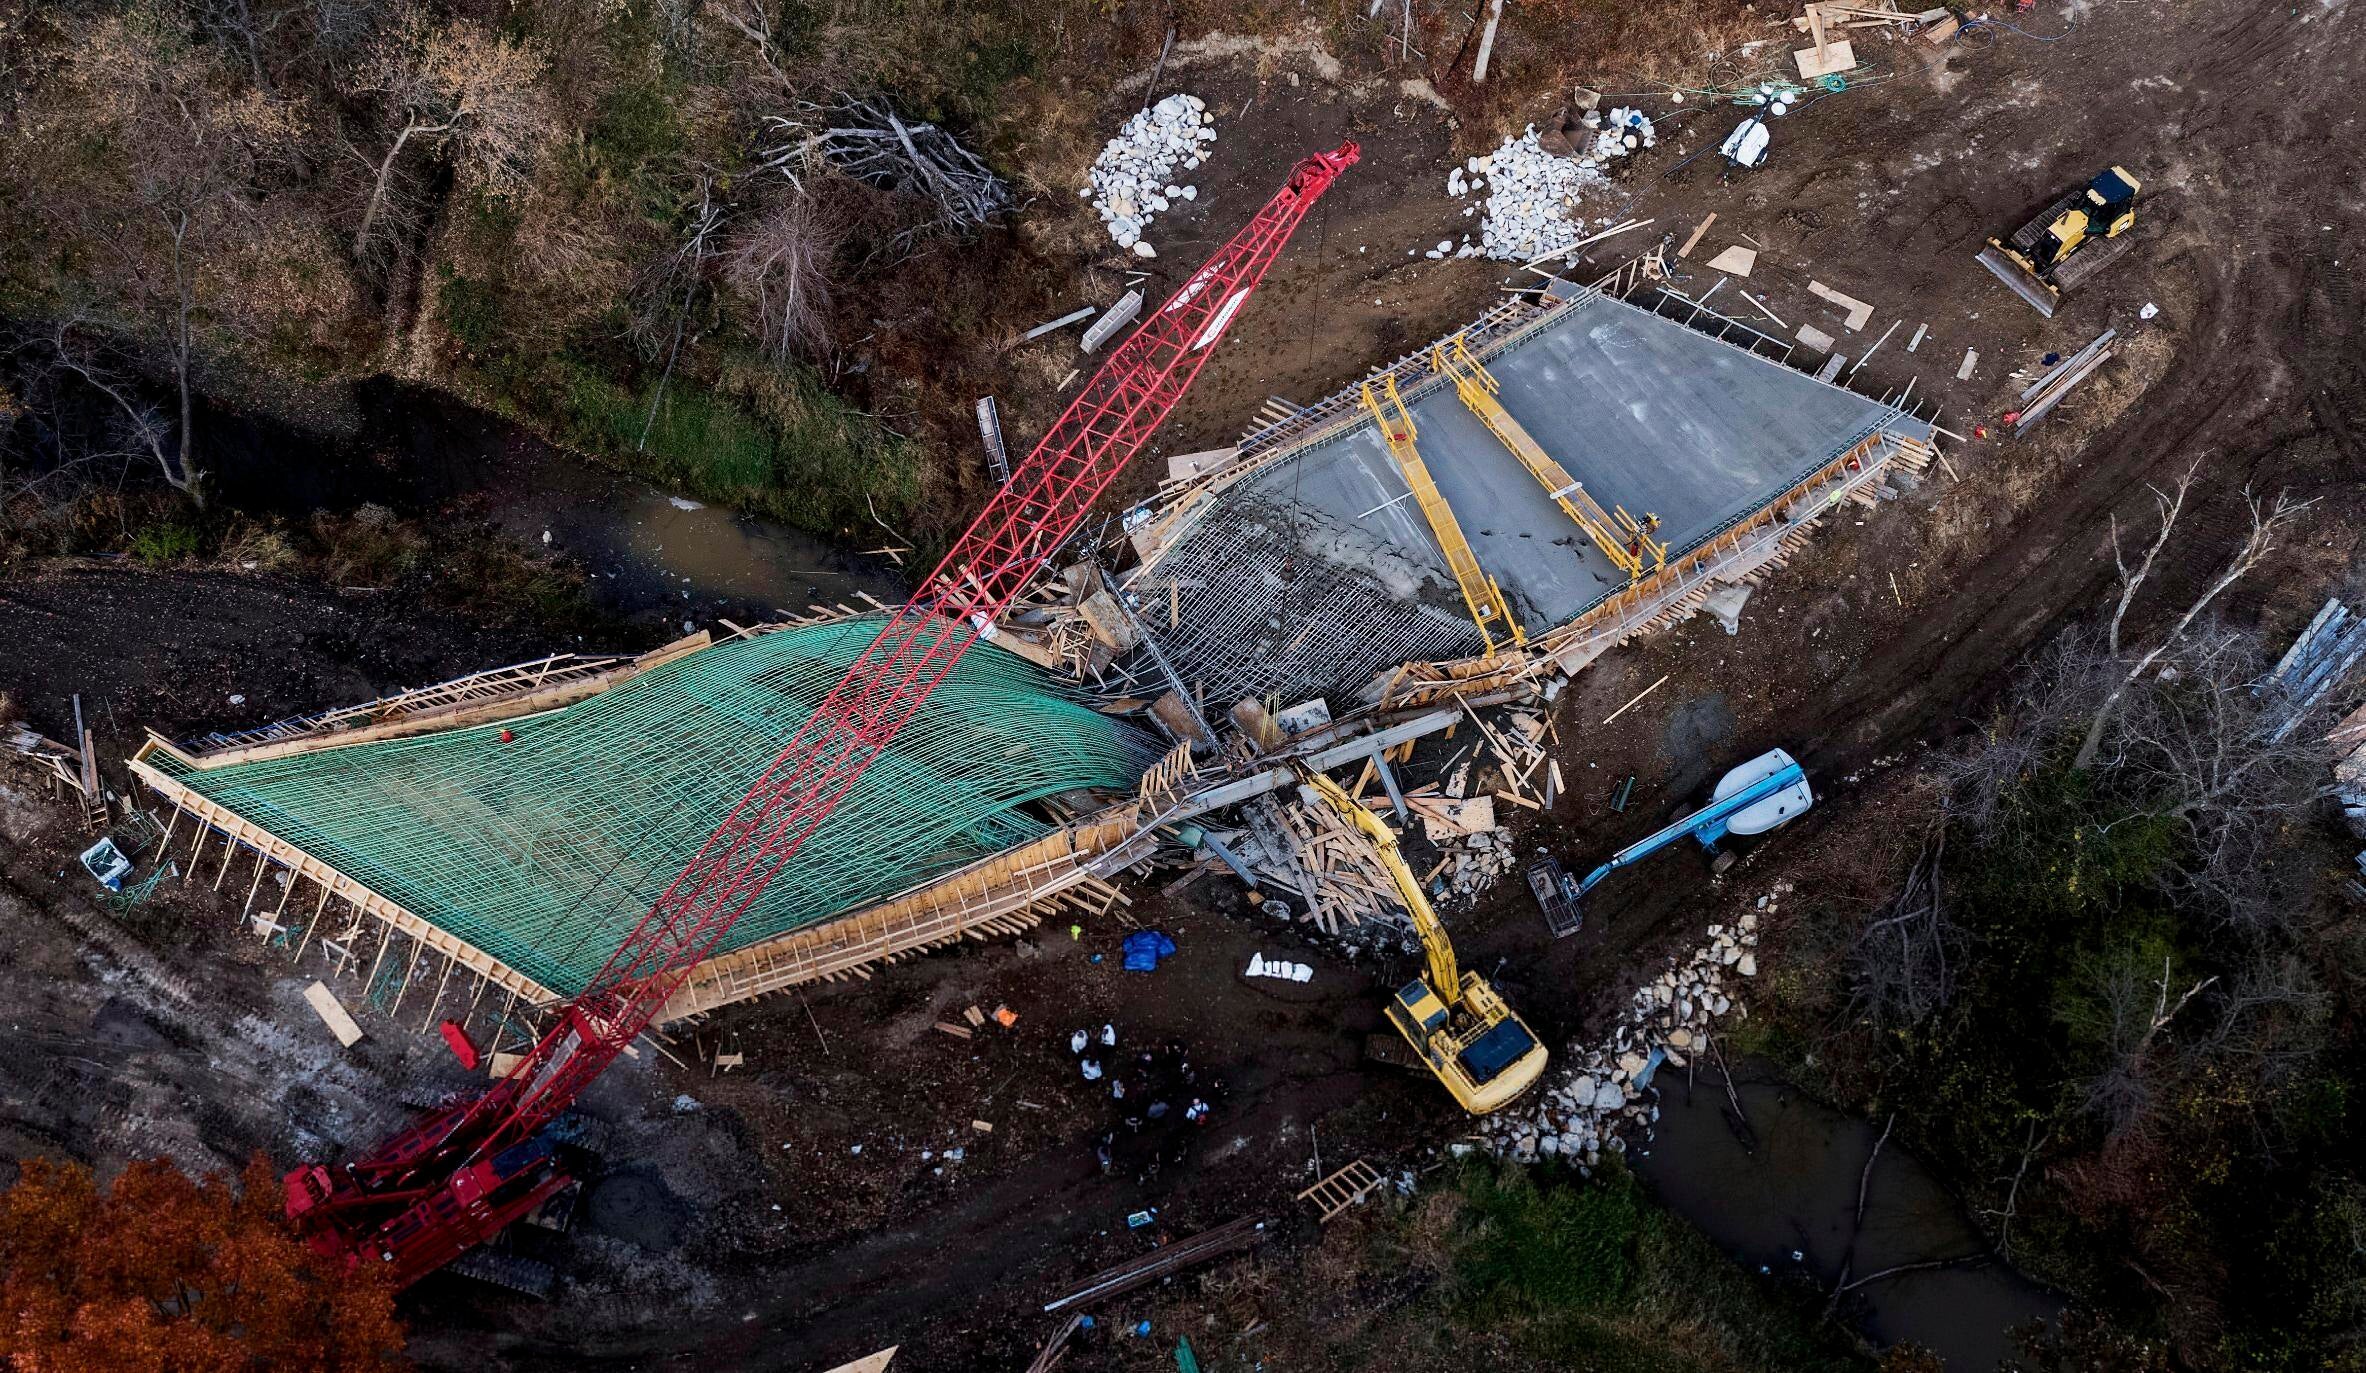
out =
{"type": "Polygon", "coordinates": [[[1746,1129],[1734,1124],[1713,1065],[1689,1084],[1663,1070],[1659,1136],[1628,1155],[1651,1191],[1725,1252],[1770,1276],[1803,1271],[1822,1290],[1843,1264],[1855,1283],[1907,1264],[1969,1259],[1876,1278],[1843,1297],[1843,1311],[1876,1345],[1921,1345],[1952,1373],[1987,1373],[2016,1352],[2013,1326],[2061,1311],[2061,1300],[1992,1262],[1957,1198],[1898,1139],[1864,1172],[1881,1122],[1834,1110],[1748,1061],[1734,1065],[1734,1077],[1746,1129]]]}

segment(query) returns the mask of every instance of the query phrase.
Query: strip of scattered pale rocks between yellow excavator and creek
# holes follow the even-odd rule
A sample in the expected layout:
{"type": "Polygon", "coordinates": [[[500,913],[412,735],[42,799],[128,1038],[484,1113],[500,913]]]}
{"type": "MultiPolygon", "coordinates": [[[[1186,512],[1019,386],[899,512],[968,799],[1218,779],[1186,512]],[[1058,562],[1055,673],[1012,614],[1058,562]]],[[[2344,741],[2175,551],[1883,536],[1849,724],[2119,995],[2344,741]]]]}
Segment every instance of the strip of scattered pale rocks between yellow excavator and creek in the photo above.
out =
{"type": "Polygon", "coordinates": [[[1649,1129],[1659,1120],[1649,1079],[1685,1068],[1704,1051],[1718,1016],[1748,1016],[1727,992],[1739,990],[1730,978],[1758,975],[1758,923],[1789,890],[1791,883],[1774,883],[1774,892],[1758,897],[1758,909],[1732,928],[1708,926],[1708,942],[1689,959],[1670,956],[1659,978],[1635,990],[1609,1037],[1571,1049],[1559,1075],[1479,1127],[1486,1148],[1517,1162],[1566,1158],[1588,1174],[1602,1162],[1602,1150],[1625,1153],[1621,1132],[1635,1124],[1649,1129]]]}

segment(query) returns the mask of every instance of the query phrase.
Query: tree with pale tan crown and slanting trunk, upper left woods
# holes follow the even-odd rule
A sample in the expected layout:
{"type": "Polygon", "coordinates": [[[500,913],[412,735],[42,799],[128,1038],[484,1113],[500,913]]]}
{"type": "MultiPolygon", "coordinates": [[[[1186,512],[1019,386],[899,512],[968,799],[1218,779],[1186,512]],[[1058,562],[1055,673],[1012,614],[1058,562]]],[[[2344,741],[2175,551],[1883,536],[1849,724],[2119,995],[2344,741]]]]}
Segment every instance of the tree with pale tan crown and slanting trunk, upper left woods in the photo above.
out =
{"type": "Polygon", "coordinates": [[[466,19],[431,24],[412,12],[379,40],[362,88],[388,114],[388,142],[362,206],[353,251],[369,251],[405,149],[452,156],[464,185],[487,194],[516,192],[551,137],[542,90],[542,54],[466,19]]]}

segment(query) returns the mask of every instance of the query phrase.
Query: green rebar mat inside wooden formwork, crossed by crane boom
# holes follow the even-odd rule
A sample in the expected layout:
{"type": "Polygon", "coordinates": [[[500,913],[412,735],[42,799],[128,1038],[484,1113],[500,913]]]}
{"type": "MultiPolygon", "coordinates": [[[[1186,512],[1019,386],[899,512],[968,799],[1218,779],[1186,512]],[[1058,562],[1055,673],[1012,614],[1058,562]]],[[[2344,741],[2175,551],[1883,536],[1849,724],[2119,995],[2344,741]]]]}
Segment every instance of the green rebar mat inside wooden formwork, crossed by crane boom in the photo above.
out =
{"type": "MultiPolygon", "coordinates": [[[[800,625],[542,715],[189,769],[185,786],[573,994],[878,634],[800,625]],[[502,731],[509,729],[509,743],[502,731]]],[[[731,928],[795,930],[1036,838],[1034,800],[1133,788],[1157,750],[977,646],[731,928]]]]}

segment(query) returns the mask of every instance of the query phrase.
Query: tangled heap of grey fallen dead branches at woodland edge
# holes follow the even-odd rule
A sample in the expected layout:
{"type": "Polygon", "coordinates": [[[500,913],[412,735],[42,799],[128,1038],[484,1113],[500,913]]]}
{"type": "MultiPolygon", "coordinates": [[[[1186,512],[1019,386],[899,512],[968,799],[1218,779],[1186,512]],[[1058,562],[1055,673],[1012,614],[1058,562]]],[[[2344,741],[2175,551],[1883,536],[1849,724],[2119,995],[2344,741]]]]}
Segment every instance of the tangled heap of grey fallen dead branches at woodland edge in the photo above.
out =
{"type": "Polygon", "coordinates": [[[800,102],[795,118],[764,121],[771,144],[764,166],[804,189],[816,168],[833,168],[864,185],[911,196],[927,206],[901,246],[927,232],[977,232],[1017,208],[1010,185],[935,123],[904,123],[878,97],[840,97],[835,104],[800,102]]]}

